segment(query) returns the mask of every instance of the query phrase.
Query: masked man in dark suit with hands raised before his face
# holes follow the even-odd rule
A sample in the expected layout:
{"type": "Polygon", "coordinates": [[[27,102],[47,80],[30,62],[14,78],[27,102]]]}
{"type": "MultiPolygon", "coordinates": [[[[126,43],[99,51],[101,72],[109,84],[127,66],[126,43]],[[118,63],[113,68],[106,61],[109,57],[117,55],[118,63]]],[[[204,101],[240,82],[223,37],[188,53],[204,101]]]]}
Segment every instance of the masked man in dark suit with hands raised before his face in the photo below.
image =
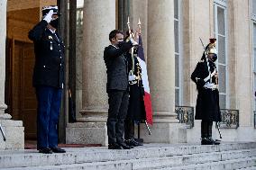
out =
{"type": "Polygon", "coordinates": [[[109,149],[129,149],[123,142],[124,119],[129,104],[127,52],[136,42],[131,39],[123,41],[123,31],[114,30],[109,33],[111,45],[105,47],[104,60],[106,66],[108,94],[107,135],[109,149]]]}

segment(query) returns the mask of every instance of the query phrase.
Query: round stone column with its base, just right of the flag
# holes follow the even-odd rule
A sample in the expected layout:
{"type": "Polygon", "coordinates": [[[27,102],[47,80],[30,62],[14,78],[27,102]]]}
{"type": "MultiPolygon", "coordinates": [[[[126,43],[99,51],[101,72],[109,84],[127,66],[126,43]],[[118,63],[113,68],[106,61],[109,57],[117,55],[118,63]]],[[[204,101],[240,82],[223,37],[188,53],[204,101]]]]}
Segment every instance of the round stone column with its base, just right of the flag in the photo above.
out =
{"type": "Polygon", "coordinates": [[[153,107],[152,135],[146,142],[186,141],[186,129],[175,113],[175,49],[173,0],[148,1],[148,73],[153,107]]]}

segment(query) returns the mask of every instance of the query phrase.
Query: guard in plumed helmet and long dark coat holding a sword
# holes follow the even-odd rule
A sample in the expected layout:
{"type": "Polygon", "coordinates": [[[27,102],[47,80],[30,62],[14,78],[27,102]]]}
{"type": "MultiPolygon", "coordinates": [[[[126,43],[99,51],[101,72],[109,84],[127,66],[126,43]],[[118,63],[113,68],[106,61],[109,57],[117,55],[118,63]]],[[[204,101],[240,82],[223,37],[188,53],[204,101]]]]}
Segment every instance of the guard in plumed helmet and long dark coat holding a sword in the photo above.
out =
{"type": "Polygon", "coordinates": [[[201,121],[201,144],[218,145],[219,141],[212,139],[213,121],[221,121],[219,106],[218,74],[215,67],[217,53],[216,39],[210,39],[206,50],[197,63],[191,79],[197,84],[196,120],[201,121]]]}

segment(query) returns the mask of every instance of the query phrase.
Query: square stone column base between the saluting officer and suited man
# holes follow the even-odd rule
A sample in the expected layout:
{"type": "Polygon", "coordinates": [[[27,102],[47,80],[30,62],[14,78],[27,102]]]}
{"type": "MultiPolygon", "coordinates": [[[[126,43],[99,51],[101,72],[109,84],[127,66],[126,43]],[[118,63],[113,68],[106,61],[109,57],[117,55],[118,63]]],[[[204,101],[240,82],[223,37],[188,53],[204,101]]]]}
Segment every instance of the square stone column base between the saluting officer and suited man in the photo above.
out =
{"type": "Polygon", "coordinates": [[[105,122],[69,123],[66,128],[68,144],[100,144],[107,146],[107,129],[105,122]]]}

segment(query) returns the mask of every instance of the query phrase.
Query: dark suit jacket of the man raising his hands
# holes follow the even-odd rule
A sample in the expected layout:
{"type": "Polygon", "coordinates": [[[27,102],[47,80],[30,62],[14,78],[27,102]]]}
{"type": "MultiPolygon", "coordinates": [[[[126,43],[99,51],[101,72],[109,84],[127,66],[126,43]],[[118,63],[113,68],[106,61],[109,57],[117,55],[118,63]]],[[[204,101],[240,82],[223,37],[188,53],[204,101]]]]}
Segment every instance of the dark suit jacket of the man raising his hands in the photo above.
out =
{"type": "Polygon", "coordinates": [[[106,91],[126,90],[128,88],[127,52],[133,47],[131,41],[123,43],[120,48],[113,45],[105,47],[104,60],[106,66],[106,91]]]}

